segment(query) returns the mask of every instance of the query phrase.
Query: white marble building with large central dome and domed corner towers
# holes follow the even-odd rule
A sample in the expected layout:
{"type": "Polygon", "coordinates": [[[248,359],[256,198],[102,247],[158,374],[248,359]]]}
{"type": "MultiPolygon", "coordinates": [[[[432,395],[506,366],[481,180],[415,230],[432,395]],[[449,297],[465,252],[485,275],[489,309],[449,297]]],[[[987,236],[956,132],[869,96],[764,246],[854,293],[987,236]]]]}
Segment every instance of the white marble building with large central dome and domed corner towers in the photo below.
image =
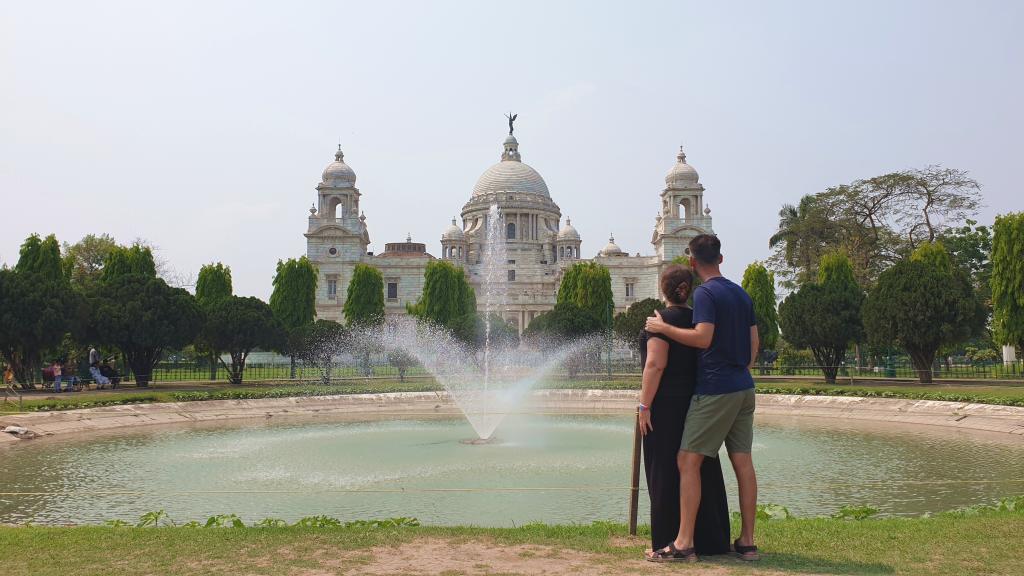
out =
{"type": "MultiPolygon", "coordinates": [[[[497,204],[508,243],[508,306],[504,317],[521,331],[537,315],[554,306],[563,271],[584,259],[583,240],[568,218],[562,223],[561,210],[544,178],[522,162],[516,138],[509,134],[502,146],[501,160],[484,170],[463,206],[461,224],[453,219],[441,234],[440,257],[462,266],[479,295],[487,212],[497,204]]],[[[658,297],[657,277],[665,263],[684,255],[687,243],[697,234],[713,233],[711,209],[703,202],[697,172],[686,163],[682,150],[676,158],[660,193],[662,207],[651,237],[654,253],[631,256],[609,238],[592,258],[611,273],[616,313],[637,300],[658,297]]],[[[426,245],[411,238],[385,244],[379,254],[368,251],[370,234],[367,217],[359,210],[355,172],[345,164],[340,147],[334,162],[324,170],[316,192],[317,204],[309,210],[305,234],[306,255],[319,269],[316,316],[344,320],[342,306],[352,269],[358,262],[376,266],[384,275],[388,314],[404,314],[406,304],[420,297],[424,269],[434,256],[427,253],[426,245]]],[[[614,217],[608,214],[609,221],[614,217]]]]}

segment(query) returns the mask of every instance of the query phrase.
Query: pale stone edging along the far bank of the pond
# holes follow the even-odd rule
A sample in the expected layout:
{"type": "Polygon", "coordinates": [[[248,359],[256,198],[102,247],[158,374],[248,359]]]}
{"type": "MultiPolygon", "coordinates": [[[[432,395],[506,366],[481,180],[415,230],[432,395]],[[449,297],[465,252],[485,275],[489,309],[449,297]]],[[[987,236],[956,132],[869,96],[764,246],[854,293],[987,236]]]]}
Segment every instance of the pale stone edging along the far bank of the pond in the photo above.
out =
{"type": "MultiPolygon", "coordinates": [[[[629,414],[635,406],[635,390],[550,389],[535,390],[523,410],[552,414],[629,414]]],[[[1011,434],[1024,440],[1024,408],[1013,406],[887,398],[758,395],[758,413],[940,425],[1011,434]]],[[[131,404],[33,412],[0,416],[0,428],[22,426],[38,436],[51,436],[241,418],[454,414],[459,414],[459,410],[445,393],[387,393],[131,404]]],[[[20,440],[12,435],[0,434],[0,445],[16,442],[20,440]]]]}

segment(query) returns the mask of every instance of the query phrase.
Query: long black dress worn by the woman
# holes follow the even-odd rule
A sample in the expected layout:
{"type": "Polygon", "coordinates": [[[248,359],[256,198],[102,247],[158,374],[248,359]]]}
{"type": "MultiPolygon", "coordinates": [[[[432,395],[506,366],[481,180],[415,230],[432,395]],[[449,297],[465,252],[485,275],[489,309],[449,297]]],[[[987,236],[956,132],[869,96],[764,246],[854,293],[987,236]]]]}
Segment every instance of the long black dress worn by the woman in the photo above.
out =
{"type": "MultiPolygon", "coordinates": [[[[693,327],[693,311],[670,306],[662,311],[668,324],[693,327]]],[[[660,334],[643,332],[640,359],[647,361],[647,339],[657,337],[669,342],[669,362],[650,406],[651,426],[643,438],[643,460],[650,494],[650,540],[652,549],[668,546],[679,532],[679,467],[677,456],[683,441],[683,424],[690,407],[697,377],[697,352],[660,334]]],[[[729,502],[725,480],[718,458],[705,458],[700,466],[700,508],[693,531],[693,545],[698,554],[729,551],[729,502]]]]}

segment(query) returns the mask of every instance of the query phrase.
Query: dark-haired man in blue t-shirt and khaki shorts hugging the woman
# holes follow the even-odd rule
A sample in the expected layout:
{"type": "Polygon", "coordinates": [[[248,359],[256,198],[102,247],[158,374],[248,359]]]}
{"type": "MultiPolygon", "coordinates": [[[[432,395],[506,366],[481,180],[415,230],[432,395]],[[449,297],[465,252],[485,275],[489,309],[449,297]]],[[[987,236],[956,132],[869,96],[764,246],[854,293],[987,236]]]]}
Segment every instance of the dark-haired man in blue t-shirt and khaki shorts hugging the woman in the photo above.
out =
{"type": "Polygon", "coordinates": [[[700,504],[700,464],[718,454],[722,444],[739,485],[742,527],[733,549],[742,560],[760,557],[754,545],[758,481],[751,458],[754,443],[754,378],[751,367],[759,347],[757,319],[750,295],[722,276],[722,243],[702,234],[689,243],[690,268],[703,281],[693,292],[694,327],[679,328],[656,312],[646,330],[699,348],[697,385],[686,415],[679,450],[680,524],[675,542],[662,560],[695,562],[693,526],[700,504]]]}

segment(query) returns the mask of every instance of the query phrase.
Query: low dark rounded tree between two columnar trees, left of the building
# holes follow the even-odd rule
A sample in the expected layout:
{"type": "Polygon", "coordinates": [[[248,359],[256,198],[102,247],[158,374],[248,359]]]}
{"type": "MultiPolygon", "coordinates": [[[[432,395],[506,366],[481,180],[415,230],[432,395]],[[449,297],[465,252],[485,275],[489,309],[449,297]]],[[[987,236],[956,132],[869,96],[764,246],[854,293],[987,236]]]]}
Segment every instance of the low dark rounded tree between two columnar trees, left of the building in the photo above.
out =
{"type": "Polygon", "coordinates": [[[263,300],[254,297],[226,296],[209,303],[203,340],[226,352],[231,364],[224,364],[232,384],[241,384],[246,361],[257,347],[273,348],[285,338],[281,323],[263,300]]]}

